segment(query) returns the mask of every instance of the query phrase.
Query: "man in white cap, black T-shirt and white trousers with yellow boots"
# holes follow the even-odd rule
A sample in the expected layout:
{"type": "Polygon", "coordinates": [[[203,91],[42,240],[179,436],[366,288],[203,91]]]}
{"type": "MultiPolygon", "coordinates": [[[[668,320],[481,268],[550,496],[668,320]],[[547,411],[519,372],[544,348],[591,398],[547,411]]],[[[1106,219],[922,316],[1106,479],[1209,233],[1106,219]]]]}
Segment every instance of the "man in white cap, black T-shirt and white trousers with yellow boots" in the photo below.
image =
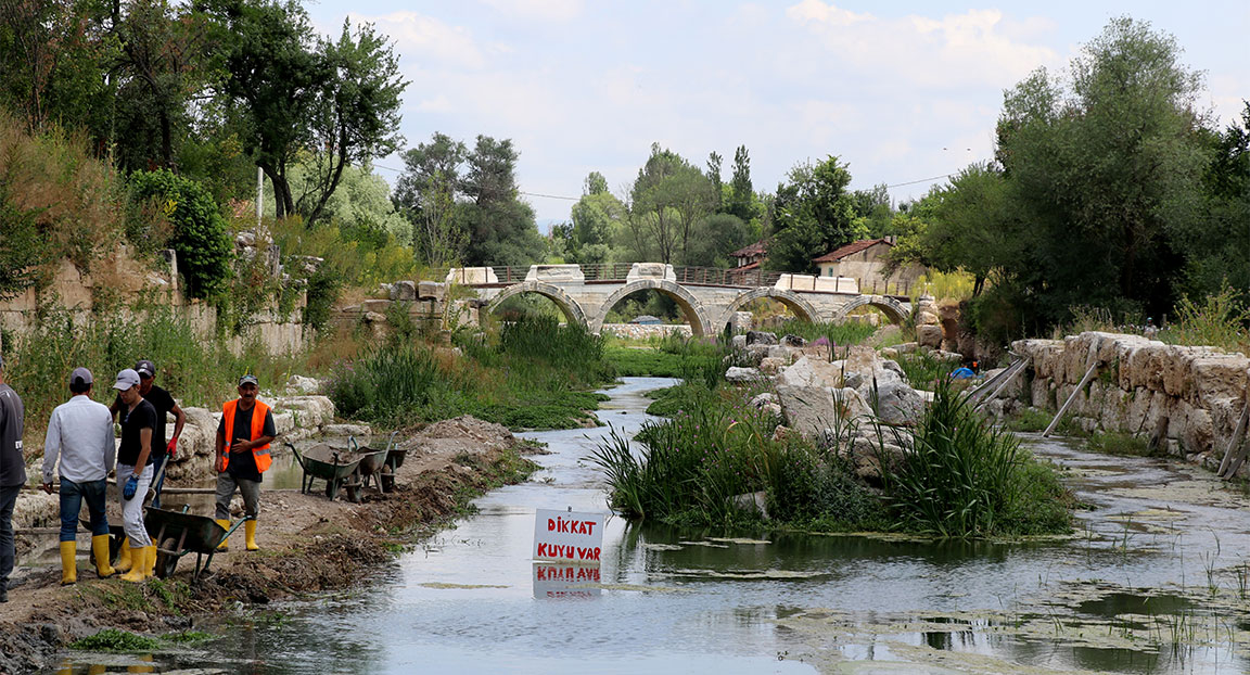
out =
{"type": "MultiPolygon", "coordinates": [[[[134,369],[118,372],[112,389],[121,392],[121,445],[118,446],[118,488],[121,490],[121,526],[130,549],[130,569],[125,581],[142,581],[156,566],[156,546],[144,526],[144,498],[152,480],[151,449],[156,429],[156,409],[139,394],[139,374],[134,369]]],[[[125,560],[119,560],[119,568],[125,560]]]]}

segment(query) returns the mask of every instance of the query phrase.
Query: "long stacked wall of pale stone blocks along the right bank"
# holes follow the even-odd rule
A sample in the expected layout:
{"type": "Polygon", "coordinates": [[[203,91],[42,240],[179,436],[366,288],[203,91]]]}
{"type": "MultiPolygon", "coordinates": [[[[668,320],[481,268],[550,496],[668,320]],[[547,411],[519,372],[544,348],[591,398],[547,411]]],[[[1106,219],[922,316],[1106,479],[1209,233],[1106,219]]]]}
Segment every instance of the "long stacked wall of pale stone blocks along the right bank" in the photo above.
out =
{"type": "MultiPolygon", "coordinates": [[[[1250,402],[1250,359],[1208,346],[1168,345],[1140,335],[1082,332],[1064,340],[1020,340],[1029,360],[996,409],[1018,400],[1056,411],[1094,362],[1099,370],[1069,408],[1085,431],[1149,436],[1172,455],[1219,466],[1241,410],[1250,402]]],[[[1250,475],[1242,465],[1240,474],[1250,475]]]]}

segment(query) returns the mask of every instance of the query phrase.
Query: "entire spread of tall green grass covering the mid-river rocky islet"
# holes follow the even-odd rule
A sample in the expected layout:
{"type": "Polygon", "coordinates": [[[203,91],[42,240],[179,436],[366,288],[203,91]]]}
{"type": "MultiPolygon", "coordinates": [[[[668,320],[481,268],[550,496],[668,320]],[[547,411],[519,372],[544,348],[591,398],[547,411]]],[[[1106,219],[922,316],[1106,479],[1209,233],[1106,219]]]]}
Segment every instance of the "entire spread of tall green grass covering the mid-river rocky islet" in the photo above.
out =
{"type": "MultiPolygon", "coordinates": [[[[724,381],[732,364],[728,345],[699,345],[688,346],[695,356],[685,381],[655,392],[648,411],[669,419],[644,425],[636,436],[641,451],[614,431],[595,452],[609,501],[626,516],[690,526],[759,524],[759,511],[744,509],[735,496],[762,491],[769,526],[782,529],[940,538],[1070,529],[1072,500],[1054,466],[976,412],[946,378],[915,429],[835,420],[824,442],[814,444],[776,432],[781,420],[749,404],[762,386],[724,381]],[[876,485],[860,480],[849,460],[862,442],[859,424],[876,434],[876,485]],[[886,444],[910,451],[892,460],[886,444]]],[[[672,344],[666,349],[676,351],[672,344]]]]}

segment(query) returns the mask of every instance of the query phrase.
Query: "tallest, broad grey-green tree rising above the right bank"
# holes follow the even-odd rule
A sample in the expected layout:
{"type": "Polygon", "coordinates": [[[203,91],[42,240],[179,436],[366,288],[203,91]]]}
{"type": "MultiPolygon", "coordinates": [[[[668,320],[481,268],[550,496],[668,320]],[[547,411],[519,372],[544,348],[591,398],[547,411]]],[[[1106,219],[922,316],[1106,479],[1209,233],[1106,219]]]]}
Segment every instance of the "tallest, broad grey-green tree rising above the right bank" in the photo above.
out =
{"type": "Polygon", "coordinates": [[[998,156],[1010,209],[1030,228],[1006,270],[1041,324],[1071,306],[1166,311],[1184,264],[1174,232],[1196,226],[1208,156],[1195,112],[1199,74],[1175,39],[1114,19],[1072,60],[1009,90],[998,156]]]}

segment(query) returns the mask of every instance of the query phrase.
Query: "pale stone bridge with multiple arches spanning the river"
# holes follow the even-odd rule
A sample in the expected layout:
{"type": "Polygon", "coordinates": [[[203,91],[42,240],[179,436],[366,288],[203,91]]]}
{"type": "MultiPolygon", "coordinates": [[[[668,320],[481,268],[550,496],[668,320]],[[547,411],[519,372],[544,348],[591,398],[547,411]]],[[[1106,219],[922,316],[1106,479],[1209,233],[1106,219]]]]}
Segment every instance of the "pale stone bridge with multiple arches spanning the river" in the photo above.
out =
{"type": "Polygon", "coordinates": [[[504,300],[522,294],[550,299],[570,322],[599,332],[608,312],[628,295],[654,290],[681,308],[695,335],[714,335],[732,324],[735,312],[752,300],[771,298],[798,318],[840,321],[861,306],[881,310],[900,322],[911,314],[904,295],[864,295],[854,279],[820,278],[751,270],[674,268],[659,262],[628,265],[531,265],[529,268],[456,268],[446,281],[478,290],[494,311],[504,300]]]}

